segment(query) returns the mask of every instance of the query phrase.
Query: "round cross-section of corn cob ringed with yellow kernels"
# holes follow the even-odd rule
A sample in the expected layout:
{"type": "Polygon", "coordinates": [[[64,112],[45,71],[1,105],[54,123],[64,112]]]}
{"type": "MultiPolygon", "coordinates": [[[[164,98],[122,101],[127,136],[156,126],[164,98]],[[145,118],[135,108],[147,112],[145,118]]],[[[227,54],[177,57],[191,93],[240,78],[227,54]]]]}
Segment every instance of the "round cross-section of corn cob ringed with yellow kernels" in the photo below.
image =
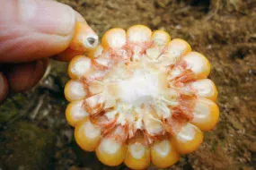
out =
{"type": "MultiPolygon", "coordinates": [[[[83,39],[77,42],[81,48],[83,39]]],[[[172,166],[198,149],[218,121],[209,72],[204,55],[163,30],[108,30],[102,45],[69,64],[66,120],[77,144],[105,165],[172,166]]]]}

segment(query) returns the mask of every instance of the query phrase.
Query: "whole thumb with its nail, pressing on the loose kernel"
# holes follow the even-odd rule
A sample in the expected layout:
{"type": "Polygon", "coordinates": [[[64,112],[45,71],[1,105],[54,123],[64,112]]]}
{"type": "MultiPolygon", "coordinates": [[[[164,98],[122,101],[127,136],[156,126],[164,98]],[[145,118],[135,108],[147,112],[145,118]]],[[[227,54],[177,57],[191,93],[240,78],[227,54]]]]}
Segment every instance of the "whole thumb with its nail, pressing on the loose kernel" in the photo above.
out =
{"type": "Polygon", "coordinates": [[[49,0],[4,0],[1,4],[1,63],[29,62],[68,47],[77,15],[71,7],[49,0]]]}

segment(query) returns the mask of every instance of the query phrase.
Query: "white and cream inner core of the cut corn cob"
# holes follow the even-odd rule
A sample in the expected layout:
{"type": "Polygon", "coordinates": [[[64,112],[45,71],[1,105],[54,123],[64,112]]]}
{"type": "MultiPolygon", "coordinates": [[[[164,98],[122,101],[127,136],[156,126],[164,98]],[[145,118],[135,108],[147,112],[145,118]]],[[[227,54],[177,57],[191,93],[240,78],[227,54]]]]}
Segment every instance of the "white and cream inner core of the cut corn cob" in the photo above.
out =
{"type": "MultiPolygon", "coordinates": [[[[110,76],[105,82],[115,84],[110,89],[104,89],[103,93],[110,93],[111,89],[117,89],[113,94],[117,99],[113,112],[107,112],[106,116],[113,120],[117,116],[117,123],[125,125],[134,124],[136,129],[146,129],[151,134],[163,131],[163,123],[153,115],[153,107],[162,103],[166,95],[167,70],[161,65],[149,61],[139,61],[133,64],[120,64],[110,71],[110,76]],[[124,70],[128,72],[123,72],[124,70]],[[118,76],[116,76],[118,74],[118,76]],[[119,74],[122,76],[119,77],[119,74]],[[124,75],[124,76],[123,76],[124,75]]],[[[170,96],[171,94],[168,94],[170,96]]],[[[110,98],[107,100],[110,102],[110,98]]],[[[161,109],[163,106],[158,106],[161,109]]],[[[166,106],[167,108],[167,106],[166,106]]],[[[170,115],[170,110],[159,112],[159,116],[170,115]]],[[[163,116],[164,117],[164,116],[163,116]]]]}

